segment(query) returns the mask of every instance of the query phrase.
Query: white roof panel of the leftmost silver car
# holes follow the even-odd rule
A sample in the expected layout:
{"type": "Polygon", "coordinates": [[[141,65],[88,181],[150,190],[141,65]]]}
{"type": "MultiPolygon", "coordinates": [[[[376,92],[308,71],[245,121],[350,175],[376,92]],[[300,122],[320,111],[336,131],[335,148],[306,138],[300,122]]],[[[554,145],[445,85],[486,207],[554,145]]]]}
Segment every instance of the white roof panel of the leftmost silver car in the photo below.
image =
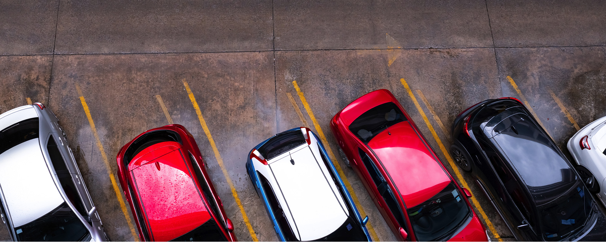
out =
{"type": "Polygon", "coordinates": [[[27,140],[0,154],[0,188],[15,227],[42,217],[64,202],[39,139],[27,140]]]}

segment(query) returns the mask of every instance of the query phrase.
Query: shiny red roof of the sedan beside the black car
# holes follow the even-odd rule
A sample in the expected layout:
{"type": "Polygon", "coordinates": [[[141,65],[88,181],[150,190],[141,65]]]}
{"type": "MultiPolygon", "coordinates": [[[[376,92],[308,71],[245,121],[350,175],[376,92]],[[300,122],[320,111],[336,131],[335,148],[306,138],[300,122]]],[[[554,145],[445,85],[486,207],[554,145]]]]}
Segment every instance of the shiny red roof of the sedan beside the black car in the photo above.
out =
{"type": "Polygon", "coordinates": [[[385,129],[368,146],[381,160],[407,208],[438,194],[451,181],[408,121],[385,129]]]}

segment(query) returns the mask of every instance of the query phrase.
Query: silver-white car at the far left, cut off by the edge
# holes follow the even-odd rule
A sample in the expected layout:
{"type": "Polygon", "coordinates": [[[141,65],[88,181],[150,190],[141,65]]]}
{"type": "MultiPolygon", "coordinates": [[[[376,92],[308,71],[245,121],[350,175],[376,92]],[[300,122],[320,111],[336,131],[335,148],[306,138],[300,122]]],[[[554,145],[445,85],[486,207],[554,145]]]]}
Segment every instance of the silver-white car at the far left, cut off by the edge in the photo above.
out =
{"type": "Polygon", "coordinates": [[[107,241],[59,120],[42,103],[0,115],[0,210],[13,241],[107,241]]]}

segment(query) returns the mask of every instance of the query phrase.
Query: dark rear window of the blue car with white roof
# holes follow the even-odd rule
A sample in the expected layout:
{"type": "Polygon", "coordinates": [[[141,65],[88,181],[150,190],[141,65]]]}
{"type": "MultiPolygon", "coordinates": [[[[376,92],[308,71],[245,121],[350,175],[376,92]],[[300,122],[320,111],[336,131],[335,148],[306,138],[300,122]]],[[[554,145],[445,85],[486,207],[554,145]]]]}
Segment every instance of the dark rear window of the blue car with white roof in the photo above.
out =
{"type": "Polygon", "coordinates": [[[301,129],[285,131],[271,137],[270,140],[267,140],[267,142],[259,147],[258,151],[261,152],[261,155],[263,155],[266,160],[269,160],[284,152],[290,151],[305,142],[305,137],[303,137],[301,129]]]}

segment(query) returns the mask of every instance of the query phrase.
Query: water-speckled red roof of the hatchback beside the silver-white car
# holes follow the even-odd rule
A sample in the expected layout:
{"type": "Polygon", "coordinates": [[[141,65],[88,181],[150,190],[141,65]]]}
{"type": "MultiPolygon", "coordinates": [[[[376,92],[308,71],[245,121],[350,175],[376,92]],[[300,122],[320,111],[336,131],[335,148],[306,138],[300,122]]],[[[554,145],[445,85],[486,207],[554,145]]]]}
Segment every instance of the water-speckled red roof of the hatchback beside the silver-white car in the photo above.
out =
{"type": "Polygon", "coordinates": [[[153,240],[173,240],[211,218],[181,154],[181,144],[145,148],[128,169],[153,240]]]}

